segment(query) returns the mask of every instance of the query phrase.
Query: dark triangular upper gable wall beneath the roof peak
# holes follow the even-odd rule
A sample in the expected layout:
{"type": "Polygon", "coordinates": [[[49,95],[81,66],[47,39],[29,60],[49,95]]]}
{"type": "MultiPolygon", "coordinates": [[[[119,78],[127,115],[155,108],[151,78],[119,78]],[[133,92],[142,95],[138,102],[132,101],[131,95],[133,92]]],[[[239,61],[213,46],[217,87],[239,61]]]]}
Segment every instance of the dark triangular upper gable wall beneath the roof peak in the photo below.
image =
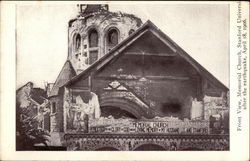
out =
{"type": "Polygon", "coordinates": [[[198,72],[151,31],[98,69],[102,78],[196,77],[198,72]]]}

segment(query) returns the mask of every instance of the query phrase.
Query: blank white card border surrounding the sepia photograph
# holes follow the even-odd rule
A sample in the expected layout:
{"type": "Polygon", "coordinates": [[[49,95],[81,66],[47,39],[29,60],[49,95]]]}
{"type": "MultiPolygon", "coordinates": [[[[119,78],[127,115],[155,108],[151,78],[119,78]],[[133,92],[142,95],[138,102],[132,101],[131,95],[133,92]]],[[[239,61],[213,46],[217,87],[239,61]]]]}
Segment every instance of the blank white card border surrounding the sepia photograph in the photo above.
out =
{"type": "MultiPolygon", "coordinates": [[[[249,152],[249,109],[245,111],[244,131],[236,132],[236,106],[235,82],[237,55],[235,54],[235,16],[237,12],[236,2],[108,2],[112,4],[229,4],[230,5],[230,151],[224,152],[16,152],[15,151],[15,4],[77,4],[74,2],[1,2],[1,160],[248,160],[249,152]]],[[[100,2],[84,2],[100,3],[100,2]]],[[[106,3],[106,2],[101,2],[106,3]]],[[[242,7],[249,9],[248,2],[242,2],[242,7]]],[[[244,10],[244,9],[243,9],[244,10]]],[[[243,13],[246,18],[249,11],[243,13]]],[[[248,19],[249,27],[249,19],[248,19]]],[[[249,33],[248,33],[249,37],[249,33]]],[[[249,44],[249,42],[248,42],[249,44]]],[[[249,52],[249,45],[248,45],[249,52]]],[[[248,68],[249,69],[249,68],[248,68]]],[[[248,83],[249,89],[249,83],[248,83]]],[[[248,93],[249,96],[249,93],[248,93]]],[[[249,104],[248,104],[249,105],[249,104]]]]}

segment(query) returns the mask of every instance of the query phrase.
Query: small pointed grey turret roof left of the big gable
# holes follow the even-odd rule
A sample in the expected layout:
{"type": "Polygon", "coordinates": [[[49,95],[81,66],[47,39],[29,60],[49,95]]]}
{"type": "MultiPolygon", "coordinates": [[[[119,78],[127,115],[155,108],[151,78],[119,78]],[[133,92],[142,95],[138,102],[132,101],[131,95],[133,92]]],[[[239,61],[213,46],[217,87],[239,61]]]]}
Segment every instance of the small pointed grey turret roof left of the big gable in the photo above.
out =
{"type": "Polygon", "coordinates": [[[63,67],[62,67],[62,69],[61,69],[61,71],[60,71],[60,73],[59,73],[59,75],[58,75],[58,77],[57,77],[57,79],[56,79],[56,81],[55,81],[55,83],[54,83],[48,97],[58,95],[59,88],[62,85],[64,85],[66,82],[68,82],[75,75],[76,75],[76,72],[75,72],[72,64],[70,63],[69,60],[67,60],[64,63],[64,65],[63,65],[63,67]]]}

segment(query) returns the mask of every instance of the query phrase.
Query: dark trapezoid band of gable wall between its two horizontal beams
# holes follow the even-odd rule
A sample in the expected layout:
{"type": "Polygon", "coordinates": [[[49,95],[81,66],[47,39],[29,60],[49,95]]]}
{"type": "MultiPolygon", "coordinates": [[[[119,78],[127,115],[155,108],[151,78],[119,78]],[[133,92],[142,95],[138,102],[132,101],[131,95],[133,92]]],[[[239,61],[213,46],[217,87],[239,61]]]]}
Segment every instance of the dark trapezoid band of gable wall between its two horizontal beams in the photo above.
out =
{"type": "MultiPolygon", "coordinates": [[[[144,49],[140,49],[144,52],[144,49]]],[[[128,54],[124,51],[96,73],[96,77],[141,78],[141,77],[196,77],[198,72],[179,56],[128,54]]]]}

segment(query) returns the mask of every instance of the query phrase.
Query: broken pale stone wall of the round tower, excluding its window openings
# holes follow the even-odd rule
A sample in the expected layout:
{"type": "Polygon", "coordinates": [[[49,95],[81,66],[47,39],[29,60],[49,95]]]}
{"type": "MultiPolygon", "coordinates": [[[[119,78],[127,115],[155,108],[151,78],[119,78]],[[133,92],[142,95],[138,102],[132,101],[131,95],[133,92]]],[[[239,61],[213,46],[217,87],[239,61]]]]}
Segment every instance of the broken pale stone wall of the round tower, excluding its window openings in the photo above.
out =
{"type": "Polygon", "coordinates": [[[68,29],[68,59],[79,73],[89,66],[90,54],[94,49],[90,49],[88,44],[88,33],[91,29],[95,29],[98,33],[98,47],[94,50],[98,51],[99,59],[110,50],[107,46],[107,32],[109,29],[117,29],[118,43],[120,43],[132,33],[131,31],[137,30],[141,24],[141,20],[134,15],[104,10],[71,20],[68,29]],[[76,34],[81,36],[78,50],[74,49],[76,34]]]}

